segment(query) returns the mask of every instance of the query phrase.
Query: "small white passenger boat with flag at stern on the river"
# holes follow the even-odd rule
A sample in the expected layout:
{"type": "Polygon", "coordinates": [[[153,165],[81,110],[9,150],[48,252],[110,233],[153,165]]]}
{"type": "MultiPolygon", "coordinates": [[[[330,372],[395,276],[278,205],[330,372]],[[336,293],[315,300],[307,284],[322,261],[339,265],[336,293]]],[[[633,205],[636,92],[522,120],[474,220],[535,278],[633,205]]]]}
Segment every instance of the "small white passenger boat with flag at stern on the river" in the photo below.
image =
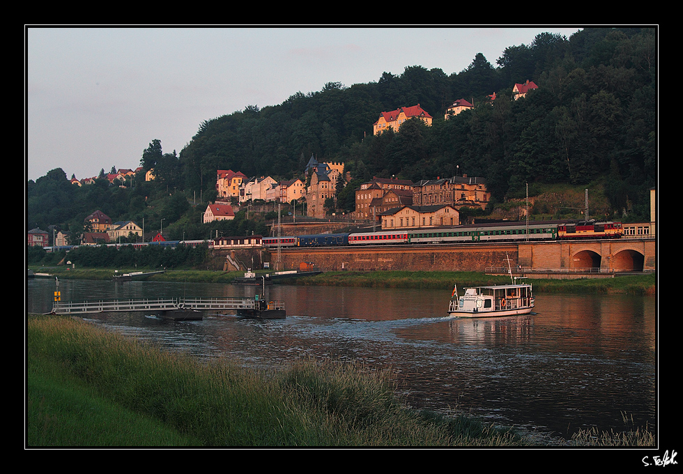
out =
{"type": "MultiPolygon", "coordinates": [[[[509,258],[507,265],[509,268],[509,258]]],[[[516,278],[512,277],[512,269],[509,272],[512,284],[474,286],[466,288],[463,296],[458,296],[458,287],[455,285],[448,314],[466,318],[529,314],[535,305],[532,286],[518,284],[516,278]]]]}

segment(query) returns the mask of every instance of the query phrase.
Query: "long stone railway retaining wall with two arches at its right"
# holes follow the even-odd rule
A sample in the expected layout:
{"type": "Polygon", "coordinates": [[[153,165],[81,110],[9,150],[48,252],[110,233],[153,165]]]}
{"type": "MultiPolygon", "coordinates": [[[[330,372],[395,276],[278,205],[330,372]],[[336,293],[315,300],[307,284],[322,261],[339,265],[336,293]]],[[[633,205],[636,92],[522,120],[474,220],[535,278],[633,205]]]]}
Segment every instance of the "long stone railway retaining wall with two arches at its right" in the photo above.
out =
{"type": "Polygon", "coordinates": [[[312,262],[322,270],[491,271],[507,268],[529,273],[586,273],[656,270],[654,238],[576,242],[392,245],[376,247],[283,248],[270,254],[271,268],[291,270],[312,262]],[[279,258],[279,263],[277,259],[279,258]]]}

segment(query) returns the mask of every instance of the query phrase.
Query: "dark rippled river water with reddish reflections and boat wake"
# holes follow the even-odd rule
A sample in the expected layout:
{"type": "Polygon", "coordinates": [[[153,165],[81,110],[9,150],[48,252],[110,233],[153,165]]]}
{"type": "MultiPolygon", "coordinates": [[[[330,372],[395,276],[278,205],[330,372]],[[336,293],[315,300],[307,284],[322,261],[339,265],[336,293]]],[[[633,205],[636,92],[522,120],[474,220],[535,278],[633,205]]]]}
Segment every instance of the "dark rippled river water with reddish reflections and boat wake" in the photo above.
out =
{"type": "MultiPolygon", "coordinates": [[[[52,308],[55,280],[28,280],[26,312],[52,308]]],[[[253,286],[60,280],[63,300],[252,296],[253,286]]],[[[463,411],[541,436],[621,431],[623,415],[657,429],[656,299],[537,294],[535,314],[458,319],[450,291],[273,285],[286,319],[205,314],[174,322],[152,314],[86,320],[201,358],[253,367],[298,358],[357,361],[397,373],[415,408],[463,411]]],[[[629,427],[632,426],[629,423],[629,427]]]]}

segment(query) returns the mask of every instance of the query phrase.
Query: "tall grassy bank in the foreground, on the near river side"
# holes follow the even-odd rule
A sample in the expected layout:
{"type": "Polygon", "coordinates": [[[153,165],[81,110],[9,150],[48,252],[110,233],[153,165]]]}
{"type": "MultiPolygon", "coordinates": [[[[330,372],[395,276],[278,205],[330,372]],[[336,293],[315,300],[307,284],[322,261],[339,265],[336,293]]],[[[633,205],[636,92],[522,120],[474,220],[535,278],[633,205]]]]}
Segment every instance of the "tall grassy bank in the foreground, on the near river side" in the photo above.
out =
{"type": "MultiPolygon", "coordinates": [[[[470,418],[411,411],[390,372],[200,362],[65,316],[27,315],[26,328],[29,448],[539,445],[470,418]]],[[[652,446],[654,437],[587,431],[553,445],[652,446]]]]}

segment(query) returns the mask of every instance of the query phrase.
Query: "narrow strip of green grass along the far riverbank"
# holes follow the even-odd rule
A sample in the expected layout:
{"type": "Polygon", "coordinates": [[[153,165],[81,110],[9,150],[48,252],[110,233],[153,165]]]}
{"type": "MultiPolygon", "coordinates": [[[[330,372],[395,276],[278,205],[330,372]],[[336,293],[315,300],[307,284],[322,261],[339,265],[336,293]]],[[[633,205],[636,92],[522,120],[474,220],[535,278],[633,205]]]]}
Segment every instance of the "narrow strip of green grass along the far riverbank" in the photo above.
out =
{"type": "MultiPolygon", "coordinates": [[[[34,271],[49,273],[59,278],[78,280],[111,280],[114,270],[102,268],[82,268],[67,270],[64,267],[33,268],[34,271]]],[[[136,269],[118,270],[128,273],[136,269]]],[[[267,273],[259,271],[257,273],[267,273]]],[[[215,282],[229,283],[243,272],[222,272],[215,270],[169,270],[152,275],[150,281],[164,282],[215,282]]],[[[482,286],[487,284],[507,284],[509,277],[493,276],[477,272],[411,272],[411,271],[374,271],[374,272],[325,272],[314,277],[279,280],[282,284],[325,285],[325,286],[365,286],[368,288],[423,288],[450,291],[454,284],[463,286],[482,286]]],[[[526,278],[532,283],[536,293],[629,293],[654,295],[657,292],[657,274],[624,275],[614,278],[582,278],[578,280],[546,280],[526,278]]]]}

